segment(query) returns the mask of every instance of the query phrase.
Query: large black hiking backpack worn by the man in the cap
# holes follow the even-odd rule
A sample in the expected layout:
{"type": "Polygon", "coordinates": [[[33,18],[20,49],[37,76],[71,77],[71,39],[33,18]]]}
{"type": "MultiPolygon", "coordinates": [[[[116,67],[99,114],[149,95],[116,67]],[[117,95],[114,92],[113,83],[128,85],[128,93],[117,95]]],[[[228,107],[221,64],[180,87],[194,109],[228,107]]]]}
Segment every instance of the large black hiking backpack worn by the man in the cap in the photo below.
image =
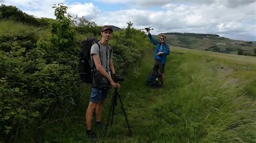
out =
{"type": "MultiPolygon", "coordinates": [[[[80,80],[85,83],[92,83],[91,77],[91,46],[96,43],[99,46],[98,39],[94,37],[86,38],[80,44],[78,72],[80,80]]],[[[100,46],[99,46],[100,47],[100,46]]]]}

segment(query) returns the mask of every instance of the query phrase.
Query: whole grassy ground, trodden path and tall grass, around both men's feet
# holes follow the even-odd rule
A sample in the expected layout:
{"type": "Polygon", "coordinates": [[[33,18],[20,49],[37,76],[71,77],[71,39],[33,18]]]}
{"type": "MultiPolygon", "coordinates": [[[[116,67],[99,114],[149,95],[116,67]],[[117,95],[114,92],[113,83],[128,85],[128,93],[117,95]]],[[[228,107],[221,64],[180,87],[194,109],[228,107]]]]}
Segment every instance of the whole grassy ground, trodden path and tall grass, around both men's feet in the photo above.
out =
{"type": "MultiPolygon", "coordinates": [[[[97,130],[99,142],[255,142],[255,57],[176,47],[171,51],[164,88],[146,86],[153,64],[152,51],[144,52],[141,68],[121,83],[119,92],[132,135],[118,101],[113,125],[105,137],[97,130]],[[250,70],[236,69],[238,63],[250,65],[250,70]]],[[[84,85],[82,91],[81,103],[86,104],[90,89],[84,85]]],[[[109,116],[112,92],[104,103],[103,121],[109,116]]],[[[86,106],[78,110],[79,124],[59,134],[49,134],[49,141],[89,141],[83,119],[86,106]]]]}

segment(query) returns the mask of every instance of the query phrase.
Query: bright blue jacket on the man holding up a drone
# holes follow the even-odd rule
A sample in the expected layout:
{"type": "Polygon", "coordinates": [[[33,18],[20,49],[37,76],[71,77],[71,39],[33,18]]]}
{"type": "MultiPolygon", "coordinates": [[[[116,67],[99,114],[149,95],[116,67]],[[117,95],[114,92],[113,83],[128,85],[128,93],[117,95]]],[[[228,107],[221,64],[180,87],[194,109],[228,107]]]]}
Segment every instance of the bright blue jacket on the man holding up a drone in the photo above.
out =
{"type": "MultiPolygon", "coordinates": [[[[158,48],[160,48],[161,42],[154,40],[154,38],[152,37],[151,33],[149,33],[149,38],[150,38],[150,41],[153,42],[154,45],[156,45],[156,50],[154,51],[154,60],[156,60],[157,59],[158,48]]],[[[164,54],[160,55],[160,56],[161,56],[162,64],[165,64],[165,62],[166,62],[166,55],[169,55],[169,53],[170,53],[169,45],[166,42],[163,45],[163,52],[164,52],[164,54]]]]}

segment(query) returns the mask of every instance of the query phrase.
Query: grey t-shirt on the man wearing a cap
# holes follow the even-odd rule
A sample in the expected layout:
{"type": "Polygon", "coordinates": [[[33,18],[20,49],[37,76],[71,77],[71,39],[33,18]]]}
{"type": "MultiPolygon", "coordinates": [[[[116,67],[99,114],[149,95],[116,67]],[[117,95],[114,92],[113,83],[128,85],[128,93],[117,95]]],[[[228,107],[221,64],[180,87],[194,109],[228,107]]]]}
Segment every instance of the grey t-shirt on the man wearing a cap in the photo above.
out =
{"type": "MultiPolygon", "coordinates": [[[[100,44],[100,42],[99,42],[99,44],[100,44]]],[[[109,60],[112,59],[112,52],[110,54],[110,51],[112,51],[112,48],[109,45],[104,46],[104,45],[100,44],[100,51],[99,51],[99,46],[97,44],[93,44],[91,47],[91,55],[92,54],[99,55],[100,62],[102,63],[102,67],[105,70],[107,70],[107,69],[109,70],[109,60]],[[107,55],[106,55],[106,52],[107,52],[107,55]]],[[[92,56],[91,56],[91,61],[93,61],[92,56]]],[[[92,62],[92,64],[93,64],[93,62],[92,62]]]]}

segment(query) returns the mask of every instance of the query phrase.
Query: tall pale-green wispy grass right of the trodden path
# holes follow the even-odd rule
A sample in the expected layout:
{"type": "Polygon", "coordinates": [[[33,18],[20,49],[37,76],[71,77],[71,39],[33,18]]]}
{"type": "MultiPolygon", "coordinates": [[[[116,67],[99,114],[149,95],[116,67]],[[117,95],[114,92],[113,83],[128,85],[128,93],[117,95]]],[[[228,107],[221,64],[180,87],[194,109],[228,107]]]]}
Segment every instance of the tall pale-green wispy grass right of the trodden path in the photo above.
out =
{"type": "Polygon", "coordinates": [[[170,102],[162,106],[170,104],[164,112],[171,116],[165,120],[173,126],[163,130],[165,137],[180,141],[255,141],[255,99],[245,96],[244,90],[253,79],[234,77],[235,70],[221,69],[218,60],[209,61],[204,54],[174,53],[173,59],[180,65],[169,68],[178,70],[172,78],[182,81],[188,76],[189,80],[174,89],[174,94],[166,95],[170,102]],[[174,116],[173,106],[178,106],[174,116]]]}

